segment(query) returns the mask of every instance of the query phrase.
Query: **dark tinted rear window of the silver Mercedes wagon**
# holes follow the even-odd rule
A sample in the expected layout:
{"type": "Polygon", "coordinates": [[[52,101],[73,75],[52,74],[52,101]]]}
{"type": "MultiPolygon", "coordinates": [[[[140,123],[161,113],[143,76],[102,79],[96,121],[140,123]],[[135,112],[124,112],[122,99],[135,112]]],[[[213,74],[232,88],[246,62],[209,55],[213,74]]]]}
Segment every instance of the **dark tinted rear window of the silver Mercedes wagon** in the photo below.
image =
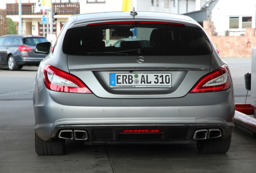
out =
{"type": "MultiPolygon", "coordinates": [[[[114,22],[115,23],[115,22],[114,22]]],[[[70,55],[206,55],[210,41],[200,28],[177,24],[113,24],[68,29],[63,52],[70,55]]]]}

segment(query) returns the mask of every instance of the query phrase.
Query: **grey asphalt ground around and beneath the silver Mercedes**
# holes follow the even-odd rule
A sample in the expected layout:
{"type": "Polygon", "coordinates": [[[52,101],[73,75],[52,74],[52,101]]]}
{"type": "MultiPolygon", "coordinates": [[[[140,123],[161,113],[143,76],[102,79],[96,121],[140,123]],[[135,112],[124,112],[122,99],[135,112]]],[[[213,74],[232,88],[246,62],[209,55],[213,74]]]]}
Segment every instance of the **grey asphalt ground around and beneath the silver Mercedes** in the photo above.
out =
{"type": "MultiPolygon", "coordinates": [[[[235,85],[235,101],[244,103],[244,74],[250,72],[251,58],[225,60],[235,85]]],[[[32,101],[36,70],[35,66],[16,72],[0,68],[0,173],[256,172],[256,138],[238,126],[226,154],[200,154],[195,144],[85,146],[67,141],[66,155],[38,156],[32,101]]]]}

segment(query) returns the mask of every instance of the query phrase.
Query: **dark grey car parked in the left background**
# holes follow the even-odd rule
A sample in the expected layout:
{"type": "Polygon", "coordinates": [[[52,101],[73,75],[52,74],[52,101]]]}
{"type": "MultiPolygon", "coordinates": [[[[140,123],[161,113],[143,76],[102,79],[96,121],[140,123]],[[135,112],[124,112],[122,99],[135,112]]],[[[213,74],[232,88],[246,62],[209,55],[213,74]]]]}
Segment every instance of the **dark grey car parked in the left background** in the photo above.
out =
{"type": "Polygon", "coordinates": [[[0,37],[0,65],[18,70],[24,65],[39,65],[45,54],[35,53],[35,45],[47,38],[31,35],[4,35],[0,37]]]}

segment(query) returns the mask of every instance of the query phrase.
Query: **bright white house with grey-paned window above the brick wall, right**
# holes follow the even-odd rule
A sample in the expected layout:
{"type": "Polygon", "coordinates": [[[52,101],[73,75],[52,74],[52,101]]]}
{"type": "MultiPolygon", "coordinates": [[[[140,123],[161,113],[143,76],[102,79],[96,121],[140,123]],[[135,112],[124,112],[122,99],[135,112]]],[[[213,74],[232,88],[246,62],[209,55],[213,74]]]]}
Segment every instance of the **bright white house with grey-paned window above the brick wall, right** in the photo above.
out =
{"type": "Polygon", "coordinates": [[[216,0],[211,20],[217,35],[240,35],[255,28],[256,0],[216,0]]]}

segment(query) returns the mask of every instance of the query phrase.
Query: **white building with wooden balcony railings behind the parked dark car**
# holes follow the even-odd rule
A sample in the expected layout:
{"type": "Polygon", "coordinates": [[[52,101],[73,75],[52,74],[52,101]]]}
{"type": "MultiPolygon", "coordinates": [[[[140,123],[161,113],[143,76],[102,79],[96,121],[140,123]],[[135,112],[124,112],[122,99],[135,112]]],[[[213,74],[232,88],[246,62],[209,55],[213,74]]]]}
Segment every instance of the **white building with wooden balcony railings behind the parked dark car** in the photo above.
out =
{"type": "MultiPolygon", "coordinates": [[[[43,36],[44,33],[46,36],[47,26],[44,26],[41,21],[42,12],[34,13],[36,2],[38,0],[21,0],[23,34],[43,36]]],[[[57,13],[57,15],[54,15],[57,20],[53,22],[53,34],[56,36],[60,33],[66,20],[73,14],[122,11],[122,0],[52,0],[52,4],[53,12],[57,13]]],[[[8,0],[6,4],[1,3],[0,8],[6,8],[7,18],[19,22],[18,0],[8,0]]],[[[52,15],[49,14],[48,17],[51,20],[52,15]]],[[[48,27],[48,33],[50,33],[50,26],[48,27]]]]}

